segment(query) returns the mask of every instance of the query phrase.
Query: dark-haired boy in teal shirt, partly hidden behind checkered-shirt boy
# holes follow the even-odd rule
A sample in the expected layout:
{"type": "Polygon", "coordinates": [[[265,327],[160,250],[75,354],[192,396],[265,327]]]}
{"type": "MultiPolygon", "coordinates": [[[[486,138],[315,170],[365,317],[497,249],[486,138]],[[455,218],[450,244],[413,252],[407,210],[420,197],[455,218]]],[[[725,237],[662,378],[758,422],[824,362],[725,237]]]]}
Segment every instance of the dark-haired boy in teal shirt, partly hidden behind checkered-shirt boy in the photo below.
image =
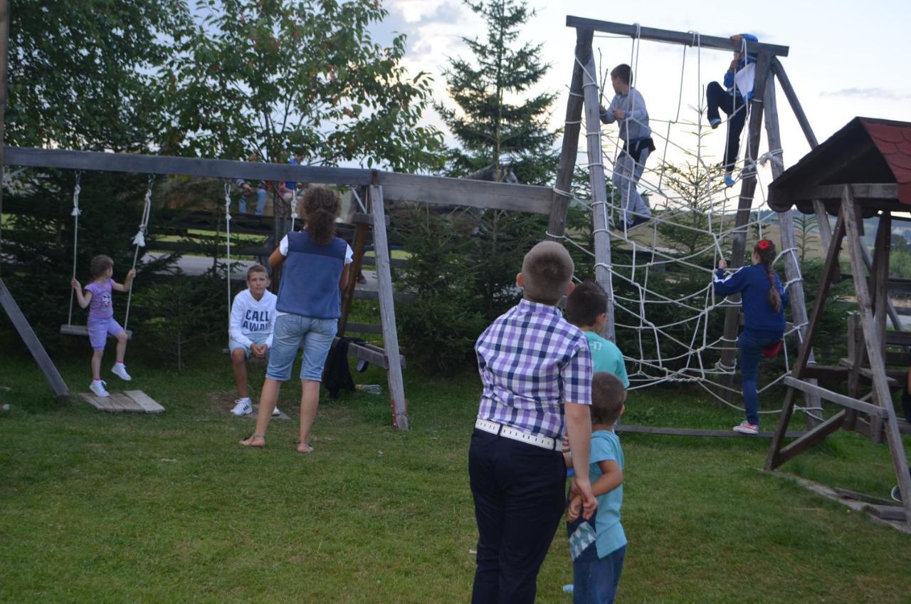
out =
{"type": "Polygon", "coordinates": [[[608,296],[593,281],[581,283],[567,297],[567,320],[585,332],[591,351],[591,370],[607,371],[630,388],[623,353],[609,339],[601,338],[607,316],[608,296]]]}

